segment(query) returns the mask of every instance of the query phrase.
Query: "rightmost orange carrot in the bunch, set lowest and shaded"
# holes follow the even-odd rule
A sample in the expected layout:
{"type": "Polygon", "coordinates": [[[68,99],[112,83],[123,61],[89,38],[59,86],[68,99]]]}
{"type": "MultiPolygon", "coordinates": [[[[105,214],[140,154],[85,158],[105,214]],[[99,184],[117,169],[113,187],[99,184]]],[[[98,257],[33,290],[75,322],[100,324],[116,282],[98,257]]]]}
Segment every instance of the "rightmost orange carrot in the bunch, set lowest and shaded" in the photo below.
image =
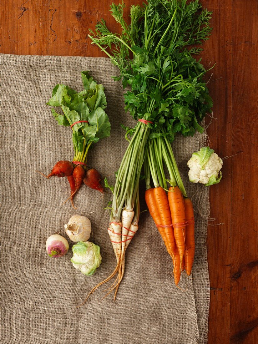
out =
{"type": "Polygon", "coordinates": [[[186,240],[185,240],[185,271],[188,276],[191,275],[193,261],[194,261],[194,211],[193,203],[190,198],[184,199],[185,219],[189,224],[186,225],[186,240]]]}

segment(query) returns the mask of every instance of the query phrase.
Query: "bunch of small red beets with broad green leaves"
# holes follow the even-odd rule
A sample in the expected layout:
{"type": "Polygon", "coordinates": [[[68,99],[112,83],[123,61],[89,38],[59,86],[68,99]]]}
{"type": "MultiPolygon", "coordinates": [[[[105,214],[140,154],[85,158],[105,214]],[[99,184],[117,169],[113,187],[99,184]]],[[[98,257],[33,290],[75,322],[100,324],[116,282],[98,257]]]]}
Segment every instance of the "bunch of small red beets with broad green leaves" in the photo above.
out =
{"type": "MultiPolygon", "coordinates": [[[[58,114],[55,108],[51,111],[58,125],[68,127],[67,130],[72,134],[74,164],[69,161],[58,161],[49,175],[41,173],[46,178],[67,177],[71,193],[65,202],[70,199],[73,207],[74,195],[80,189],[85,177],[83,166],[87,164],[89,149],[100,139],[110,136],[110,122],[104,110],[107,106],[104,86],[97,84],[88,71],[81,72],[81,76],[84,88],[81,92],[57,84],[53,89],[52,97],[47,102],[47,105],[62,109],[62,114],[58,114]]],[[[104,188],[100,184],[98,172],[93,169],[89,171],[85,184],[103,192],[104,188]]]]}

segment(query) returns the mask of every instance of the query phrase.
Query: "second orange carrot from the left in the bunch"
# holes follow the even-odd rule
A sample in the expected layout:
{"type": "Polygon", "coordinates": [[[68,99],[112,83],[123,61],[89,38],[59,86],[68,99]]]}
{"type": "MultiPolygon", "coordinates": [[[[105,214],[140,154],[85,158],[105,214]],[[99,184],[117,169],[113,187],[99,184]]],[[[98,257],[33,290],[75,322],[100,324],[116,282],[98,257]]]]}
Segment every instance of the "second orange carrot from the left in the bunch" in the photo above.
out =
{"type": "Polygon", "coordinates": [[[171,214],[169,209],[169,201],[168,201],[168,195],[166,194],[165,190],[159,186],[155,187],[153,190],[153,195],[156,203],[157,210],[160,215],[161,225],[162,226],[168,226],[168,227],[161,227],[161,232],[163,234],[162,238],[165,241],[165,238],[167,240],[167,249],[171,256],[174,255],[174,249],[175,249],[175,238],[172,228],[172,220],[171,220],[171,214]]]}

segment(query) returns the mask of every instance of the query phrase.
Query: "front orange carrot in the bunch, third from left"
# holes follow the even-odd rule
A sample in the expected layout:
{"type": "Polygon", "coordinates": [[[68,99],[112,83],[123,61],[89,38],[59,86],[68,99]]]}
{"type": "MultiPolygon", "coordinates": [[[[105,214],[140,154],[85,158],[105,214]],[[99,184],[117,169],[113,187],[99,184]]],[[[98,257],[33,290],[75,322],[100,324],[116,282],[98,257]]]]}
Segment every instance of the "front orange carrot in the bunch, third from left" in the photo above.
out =
{"type": "Polygon", "coordinates": [[[175,243],[182,264],[185,249],[185,209],[183,195],[178,186],[171,186],[169,188],[168,200],[174,227],[175,243]]]}

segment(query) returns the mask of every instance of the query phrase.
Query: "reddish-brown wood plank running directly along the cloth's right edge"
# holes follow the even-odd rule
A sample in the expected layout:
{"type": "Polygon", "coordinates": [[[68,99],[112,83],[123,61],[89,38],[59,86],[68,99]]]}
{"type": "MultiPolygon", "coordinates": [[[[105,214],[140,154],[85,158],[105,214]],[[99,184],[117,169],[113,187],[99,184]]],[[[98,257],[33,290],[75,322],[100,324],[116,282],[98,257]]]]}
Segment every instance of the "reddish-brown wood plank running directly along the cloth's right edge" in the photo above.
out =
{"type": "MultiPolygon", "coordinates": [[[[213,32],[202,53],[204,65],[216,63],[207,75],[214,101],[213,119],[207,142],[220,157],[232,155],[232,18],[231,0],[203,1],[213,11],[213,32]],[[211,75],[212,73],[212,75],[211,75]]],[[[209,119],[206,118],[206,124],[209,119]]],[[[230,336],[230,202],[232,159],[223,163],[223,179],[210,187],[211,218],[208,222],[207,255],[211,302],[208,343],[229,343],[230,336]],[[222,225],[218,225],[222,223],[222,225]]]]}

